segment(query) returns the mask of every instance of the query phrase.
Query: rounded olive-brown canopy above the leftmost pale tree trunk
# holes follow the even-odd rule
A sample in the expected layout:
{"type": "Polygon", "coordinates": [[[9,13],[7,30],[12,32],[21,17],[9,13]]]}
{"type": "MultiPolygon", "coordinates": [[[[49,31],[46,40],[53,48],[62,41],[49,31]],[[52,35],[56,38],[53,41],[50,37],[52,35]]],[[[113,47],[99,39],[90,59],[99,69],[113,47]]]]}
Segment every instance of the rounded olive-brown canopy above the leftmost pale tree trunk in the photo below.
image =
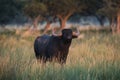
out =
{"type": "Polygon", "coordinates": [[[23,10],[26,16],[30,18],[36,18],[39,15],[45,16],[45,13],[47,12],[47,6],[42,2],[32,0],[25,5],[23,10]]]}

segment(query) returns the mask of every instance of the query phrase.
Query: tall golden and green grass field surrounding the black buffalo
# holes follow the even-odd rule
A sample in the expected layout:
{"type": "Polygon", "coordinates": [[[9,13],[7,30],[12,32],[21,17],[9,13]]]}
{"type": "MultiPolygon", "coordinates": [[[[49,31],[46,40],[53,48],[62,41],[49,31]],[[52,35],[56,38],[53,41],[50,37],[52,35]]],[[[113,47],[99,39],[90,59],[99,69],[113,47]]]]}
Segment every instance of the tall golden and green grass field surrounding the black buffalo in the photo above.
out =
{"type": "Polygon", "coordinates": [[[64,66],[37,63],[35,37],[0,33],[0,80],[120,80],[120,35],[85,31],[72,41],[64,66]]]}

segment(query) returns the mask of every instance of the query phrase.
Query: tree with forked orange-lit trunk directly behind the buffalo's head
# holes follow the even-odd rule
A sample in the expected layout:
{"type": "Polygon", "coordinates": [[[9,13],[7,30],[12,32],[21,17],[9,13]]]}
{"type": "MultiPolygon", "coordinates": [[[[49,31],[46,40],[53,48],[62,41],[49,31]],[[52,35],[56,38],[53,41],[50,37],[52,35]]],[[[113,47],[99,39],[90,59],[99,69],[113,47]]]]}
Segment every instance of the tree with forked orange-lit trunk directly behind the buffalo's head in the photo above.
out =
{"type": "Polygon", "coordinates": [[[49,3],[49,9],[53,16],[57,16],[60,19],[61,29],[65,27],[65,24],[69,17],[76,12],[81,12],[85,8],[84,0],[51,0],[49,3]]]}

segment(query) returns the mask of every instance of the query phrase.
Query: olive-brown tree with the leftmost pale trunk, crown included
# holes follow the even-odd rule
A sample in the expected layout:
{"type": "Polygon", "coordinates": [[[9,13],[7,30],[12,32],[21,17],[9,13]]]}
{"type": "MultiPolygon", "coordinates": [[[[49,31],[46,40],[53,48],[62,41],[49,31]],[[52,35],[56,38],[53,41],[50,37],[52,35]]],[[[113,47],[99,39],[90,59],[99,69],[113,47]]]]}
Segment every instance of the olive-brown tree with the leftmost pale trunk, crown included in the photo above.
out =
{"type": "Polygon", "coordinates": [[[24,13],[33,20],[33,27],[36,30],[40,19],[42,19],[46,12],[47,6],[39,0],[30,0],[24,7],[24,13]]]}

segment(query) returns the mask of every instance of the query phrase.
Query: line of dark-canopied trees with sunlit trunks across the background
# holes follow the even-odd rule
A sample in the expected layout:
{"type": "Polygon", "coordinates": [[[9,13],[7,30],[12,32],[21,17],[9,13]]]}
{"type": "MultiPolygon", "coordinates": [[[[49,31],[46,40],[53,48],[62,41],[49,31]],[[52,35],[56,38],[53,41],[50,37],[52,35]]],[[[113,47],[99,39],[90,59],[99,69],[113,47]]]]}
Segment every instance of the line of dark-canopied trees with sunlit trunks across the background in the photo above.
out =
{"type": "Polygon", "coordinates": [[[56,19],[63,29],[71,16],[86,14],[107,17],[112,31],[120,33],[120,0],[0,0],[0,24],[9,22],[19,13],[33,21],[34,30],[40,21],[46,21],[44,32],[56,19]]]}

